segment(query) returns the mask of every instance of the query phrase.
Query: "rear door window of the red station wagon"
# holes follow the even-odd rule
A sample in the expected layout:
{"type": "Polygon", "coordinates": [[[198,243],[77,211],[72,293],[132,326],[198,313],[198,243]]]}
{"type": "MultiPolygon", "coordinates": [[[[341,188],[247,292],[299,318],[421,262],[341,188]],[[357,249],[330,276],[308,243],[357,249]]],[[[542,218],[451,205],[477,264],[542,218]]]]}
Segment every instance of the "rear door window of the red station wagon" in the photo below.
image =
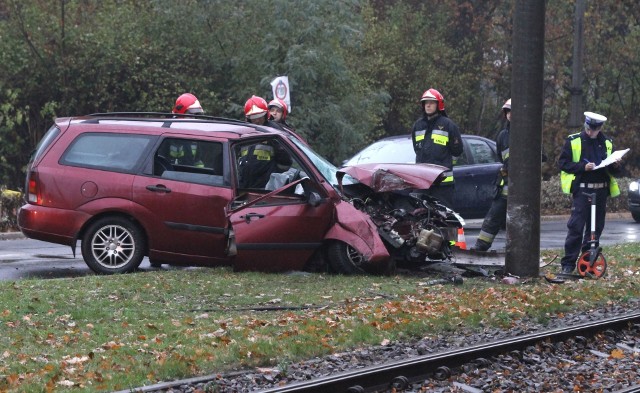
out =
{"type": "Polygon", "coordinates": [[[154,153],[153,175],[165,179],[223,186],[222,144],[167,138],[154,153]]]}

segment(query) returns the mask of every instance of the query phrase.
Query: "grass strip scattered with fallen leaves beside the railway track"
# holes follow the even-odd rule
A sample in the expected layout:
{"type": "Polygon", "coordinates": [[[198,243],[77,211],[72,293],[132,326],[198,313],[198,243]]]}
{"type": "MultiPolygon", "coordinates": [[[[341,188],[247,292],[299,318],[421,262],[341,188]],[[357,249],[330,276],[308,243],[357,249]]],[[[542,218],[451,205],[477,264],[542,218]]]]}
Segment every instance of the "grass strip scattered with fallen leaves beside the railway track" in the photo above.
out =
{"type": "MultiPolygon", "coordinates": [[[[226,268],[0,282],[0,391],[113,391],[461,328],[508,328],[640,297],[640,243],[600,280],[234,273],[226,268]]],[[[547,257],[553,251],[543,252],[547,257]]],[[[547,269],[558,269],[551,266],[547,269]]]]}

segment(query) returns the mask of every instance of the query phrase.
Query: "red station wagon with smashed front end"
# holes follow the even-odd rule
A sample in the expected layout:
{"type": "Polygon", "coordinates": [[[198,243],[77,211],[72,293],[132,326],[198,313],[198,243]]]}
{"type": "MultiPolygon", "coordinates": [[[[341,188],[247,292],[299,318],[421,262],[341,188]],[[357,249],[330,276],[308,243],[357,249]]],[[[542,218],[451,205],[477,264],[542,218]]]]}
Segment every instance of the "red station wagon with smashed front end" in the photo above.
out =
{"type": "Polygon", "coordinates": [[[339,172],[294,136],[208,116],[59,118],[30,159],[18,222],[26,236],[74,254],[80,241],[87,265],[105,274],[131,272],[145,256],[235,270],[390,273],[408,255],[450,256],[462,219],[434,200],[389,195],[428,189],[445,169],[339,172]]]}

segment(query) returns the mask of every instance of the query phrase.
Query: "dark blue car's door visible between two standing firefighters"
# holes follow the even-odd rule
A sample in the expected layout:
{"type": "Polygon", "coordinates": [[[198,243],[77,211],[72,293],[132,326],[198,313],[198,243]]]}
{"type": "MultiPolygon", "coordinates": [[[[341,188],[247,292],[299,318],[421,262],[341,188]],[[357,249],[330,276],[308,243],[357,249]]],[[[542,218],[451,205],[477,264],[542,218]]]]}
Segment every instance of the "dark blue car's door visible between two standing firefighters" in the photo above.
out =
{"type": "Polygon", "coordinates": [[[454,210],[464,218],[482,218],[491,207],[496,175],[502,164],[491,140],[468,135],[462,140],[464,154],[453,167],[454,210]]]}

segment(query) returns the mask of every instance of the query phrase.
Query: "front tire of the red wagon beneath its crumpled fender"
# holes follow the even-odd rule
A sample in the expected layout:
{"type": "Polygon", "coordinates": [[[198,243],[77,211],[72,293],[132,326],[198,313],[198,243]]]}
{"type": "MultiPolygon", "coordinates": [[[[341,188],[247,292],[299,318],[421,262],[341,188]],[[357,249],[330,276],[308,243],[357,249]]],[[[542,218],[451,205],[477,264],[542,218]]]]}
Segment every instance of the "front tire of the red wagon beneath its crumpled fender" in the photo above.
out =
{"type": "Polygon", "coordinates": [[[353,276],[359,274],[393,274],[395,262],[390,258],[383,265],[373,267],[365,261],[364,256],[355,248],[341,241],[329,243],[327,247],[329,266],[338,274],[353,276]]]}

